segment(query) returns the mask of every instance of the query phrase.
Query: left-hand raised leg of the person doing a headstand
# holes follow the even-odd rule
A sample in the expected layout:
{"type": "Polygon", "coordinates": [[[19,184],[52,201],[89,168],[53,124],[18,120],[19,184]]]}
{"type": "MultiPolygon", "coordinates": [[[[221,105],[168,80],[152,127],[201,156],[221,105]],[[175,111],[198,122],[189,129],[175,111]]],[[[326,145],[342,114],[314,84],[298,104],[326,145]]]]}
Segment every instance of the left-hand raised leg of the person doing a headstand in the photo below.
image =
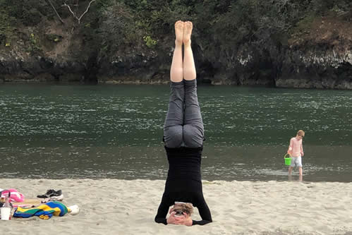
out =
{"type": "Polygon", "coordinates": [[[180,147],[183,141],[183,101],[185,97],[182,63],[183,24],[181,20],[175,23],[175,50],[170,69],[171,92],[164,123],[166,147],[180,147]]]}

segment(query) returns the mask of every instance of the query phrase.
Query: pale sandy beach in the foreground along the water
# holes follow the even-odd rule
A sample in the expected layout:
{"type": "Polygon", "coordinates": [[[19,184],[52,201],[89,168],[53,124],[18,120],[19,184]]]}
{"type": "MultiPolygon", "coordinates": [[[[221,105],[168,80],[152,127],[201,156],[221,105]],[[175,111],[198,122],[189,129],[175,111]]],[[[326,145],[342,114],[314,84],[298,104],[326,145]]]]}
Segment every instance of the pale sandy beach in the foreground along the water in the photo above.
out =
{"type": "MultiPolygon", "coordinates": [[[[203,181],[213,223],[185,227],[154,222],[164,181],[1,179],[35,198],[63,191],[78,215],[0,221],[2,234],[352,234],[352,183],[203,181]]],[[[195,210],[193,219],[200,219],[195,210]]]]}

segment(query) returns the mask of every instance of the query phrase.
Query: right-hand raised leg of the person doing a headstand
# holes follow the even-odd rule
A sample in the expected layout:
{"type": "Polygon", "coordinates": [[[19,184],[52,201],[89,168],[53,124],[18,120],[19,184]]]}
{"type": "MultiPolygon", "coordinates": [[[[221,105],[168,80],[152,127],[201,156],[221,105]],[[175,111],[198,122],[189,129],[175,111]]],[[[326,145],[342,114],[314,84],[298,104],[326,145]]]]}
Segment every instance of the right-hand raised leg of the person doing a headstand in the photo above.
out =
{"type": "Polygon", "coordinates": [[[183,78],[185,83],[185,114],[183,125],[183,142],[186,147],[201,147],[204,139],[204,126],[197,95],[197,80],[195,62],[192,48],[190,47],[190,35],[193,25],[185,22],[183,31],[183,78]]]}

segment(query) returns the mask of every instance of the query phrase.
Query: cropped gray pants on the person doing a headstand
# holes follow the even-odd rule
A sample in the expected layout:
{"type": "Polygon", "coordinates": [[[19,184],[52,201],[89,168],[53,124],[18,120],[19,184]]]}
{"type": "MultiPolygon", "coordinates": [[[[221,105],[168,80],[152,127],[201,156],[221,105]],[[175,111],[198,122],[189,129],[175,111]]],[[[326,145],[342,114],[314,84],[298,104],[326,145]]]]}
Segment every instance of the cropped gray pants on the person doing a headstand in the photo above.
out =
{"type": "Polygon", "coordinates": [[[166,147],[202,147],[204,126],[197,96],[197,81],[171,82],[169,109],[164,123],[166,147]]]}

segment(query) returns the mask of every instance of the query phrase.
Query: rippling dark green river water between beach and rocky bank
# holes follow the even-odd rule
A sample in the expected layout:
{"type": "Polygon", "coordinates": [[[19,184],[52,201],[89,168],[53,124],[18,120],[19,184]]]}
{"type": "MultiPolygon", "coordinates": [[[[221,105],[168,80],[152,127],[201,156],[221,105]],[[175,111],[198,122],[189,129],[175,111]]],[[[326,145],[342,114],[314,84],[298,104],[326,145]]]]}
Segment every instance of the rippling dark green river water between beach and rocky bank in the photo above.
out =
{"type": "MultiPolygon", "coordinates": [[[[303,129],[303,180],[352,181],[351,91],[199,86],[198,97],[203,179],[288,180],[283,156],[303,129]]],[[[0,85],[0,178],[166,179],[168,99],[168,85],[0,85]]]]}

